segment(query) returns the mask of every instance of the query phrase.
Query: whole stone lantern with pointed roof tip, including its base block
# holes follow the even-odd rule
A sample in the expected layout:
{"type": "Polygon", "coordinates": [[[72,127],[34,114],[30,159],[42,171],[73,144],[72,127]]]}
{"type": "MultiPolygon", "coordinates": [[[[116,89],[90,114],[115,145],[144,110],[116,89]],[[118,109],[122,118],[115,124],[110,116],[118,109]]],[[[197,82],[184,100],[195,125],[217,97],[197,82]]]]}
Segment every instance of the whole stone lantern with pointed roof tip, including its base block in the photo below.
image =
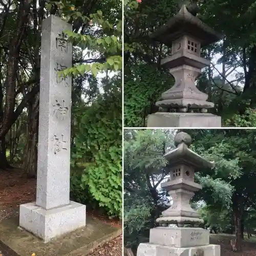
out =
{"type": "Polygon", "coordinates": [[[150,37],[172,47],[172,56],[162,59],[161,65],[169,69],[175,84],[156,102],[167,111],[149,115],[147,127],[220,127],[221,117],[207,113],[214,103],[197,89],[195,79],[202,68],[210,65],[209,60],[200,57],[201,47],[222,39],[222,35],[182,5],[179,13],[150,37]]]}

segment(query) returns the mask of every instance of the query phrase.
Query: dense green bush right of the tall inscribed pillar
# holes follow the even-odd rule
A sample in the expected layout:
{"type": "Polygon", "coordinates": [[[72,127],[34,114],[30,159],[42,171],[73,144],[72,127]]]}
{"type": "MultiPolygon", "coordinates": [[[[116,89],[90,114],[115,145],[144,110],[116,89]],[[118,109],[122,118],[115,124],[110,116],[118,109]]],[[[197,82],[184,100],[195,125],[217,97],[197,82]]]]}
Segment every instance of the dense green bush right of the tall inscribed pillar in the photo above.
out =
{"type": "MultiPolygon", "coordinates": [[[[90,107],[75,108],[77,134],[73,164],[89,161],[81,176],[87,188],[110,216],[122,213],[121,79],[104,80],[104,93],[90,107]]],[[[73,168],[74,168],[73,167],[73,168]]]]}

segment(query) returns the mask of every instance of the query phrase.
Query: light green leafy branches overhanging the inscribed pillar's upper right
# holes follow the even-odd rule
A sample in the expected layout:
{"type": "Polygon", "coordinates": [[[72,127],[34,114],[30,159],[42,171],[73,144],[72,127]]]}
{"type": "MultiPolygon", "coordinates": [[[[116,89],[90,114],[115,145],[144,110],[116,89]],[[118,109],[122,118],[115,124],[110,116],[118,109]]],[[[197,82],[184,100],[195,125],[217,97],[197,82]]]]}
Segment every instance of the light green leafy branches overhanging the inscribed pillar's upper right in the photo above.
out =
{"type": "MultiPolygon", "coordinates": [[[[114,2],[113,2],[114,3],[114,2]]],[[[115,8],[117,12],[115,17],[109,18],[104,15],[101,10],[97,10],[96,13],[91,13],[89,16],[82,15],[79,12],[79,8],[70,7],[72,12],[69,14],[71,18],[80,18],[83,23],[89,23],[94,28],[95,33],[92,35],[79,34],[73,31],[65,31],[69,41],[74,46],[78,45],[81,49],[88,51],[88,57],[94,56],[100,53],[105,61],[103,63],[96,62],[91,64],[79,64],[74,67],[70,67],[63,71],[65,76],[67,75],[84,75],[84,73],[91,72],[93,76],[97,76],[99,72],[110,70],[119,71],[122,68],[122,20],[121,20],[121,2],[115,2],[115,8]],[[101,32],[97,33],[100,28],[101,32]]]]}

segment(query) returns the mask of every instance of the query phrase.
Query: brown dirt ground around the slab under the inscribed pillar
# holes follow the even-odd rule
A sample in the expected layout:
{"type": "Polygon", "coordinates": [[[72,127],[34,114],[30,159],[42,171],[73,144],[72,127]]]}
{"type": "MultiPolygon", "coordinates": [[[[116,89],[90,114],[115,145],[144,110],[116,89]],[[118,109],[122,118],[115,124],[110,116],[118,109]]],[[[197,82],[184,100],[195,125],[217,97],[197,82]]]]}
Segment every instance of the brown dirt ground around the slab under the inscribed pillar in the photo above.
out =
{"type": "MultiPolygon", "coordinates": [[[[35,201],[36,180],[28,180],[26,174],[20,169],[0,169],[0,221],[10,215],[18,215],[20,204],[35,201]]],[[[110,220],[108,217],[99,216],[95,212],[87,212],[87,215],[121,227],[121,222],[110,220]]],[[[1,254],[0,254],[1,255],[1,254]]],[[[90,256],[121,256],[122,235],[116,239],[98,247],[90,256]]]]}

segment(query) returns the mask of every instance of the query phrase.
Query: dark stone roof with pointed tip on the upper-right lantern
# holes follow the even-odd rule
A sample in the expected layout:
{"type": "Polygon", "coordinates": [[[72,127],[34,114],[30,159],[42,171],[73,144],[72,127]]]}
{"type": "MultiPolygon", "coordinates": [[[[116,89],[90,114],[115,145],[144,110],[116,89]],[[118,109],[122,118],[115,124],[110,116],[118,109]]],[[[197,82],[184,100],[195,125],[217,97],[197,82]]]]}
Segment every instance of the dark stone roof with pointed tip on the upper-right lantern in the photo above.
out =
{"type": "Polygon", "coordinates": [[[190,35],[201,42],[201,46],[209,45],[223,39],[223,35],[204,24],[198,17],[188,12],[183,4],[178,14],[169,20],[164,26],[150,34],[150,37],[162,42],[166,46],[172,46],[172,41],[182,35],[190,35]]]}

